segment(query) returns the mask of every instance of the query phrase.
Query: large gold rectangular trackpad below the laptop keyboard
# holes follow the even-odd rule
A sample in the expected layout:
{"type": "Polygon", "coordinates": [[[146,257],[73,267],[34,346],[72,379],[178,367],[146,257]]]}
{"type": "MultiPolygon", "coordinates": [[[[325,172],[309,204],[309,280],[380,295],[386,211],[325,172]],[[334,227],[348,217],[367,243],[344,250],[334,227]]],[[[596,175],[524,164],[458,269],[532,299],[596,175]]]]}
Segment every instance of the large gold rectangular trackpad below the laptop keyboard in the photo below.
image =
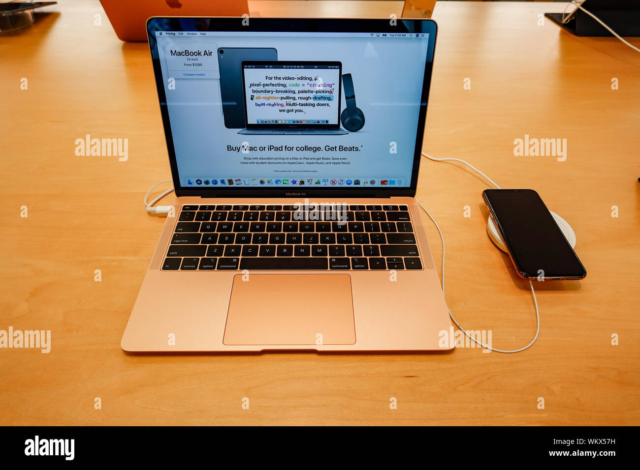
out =
{"type": "Polygon", "coordinates": [[[234,276],[223,340],[226,345],[355,342],[349,274],[234,276]]]}

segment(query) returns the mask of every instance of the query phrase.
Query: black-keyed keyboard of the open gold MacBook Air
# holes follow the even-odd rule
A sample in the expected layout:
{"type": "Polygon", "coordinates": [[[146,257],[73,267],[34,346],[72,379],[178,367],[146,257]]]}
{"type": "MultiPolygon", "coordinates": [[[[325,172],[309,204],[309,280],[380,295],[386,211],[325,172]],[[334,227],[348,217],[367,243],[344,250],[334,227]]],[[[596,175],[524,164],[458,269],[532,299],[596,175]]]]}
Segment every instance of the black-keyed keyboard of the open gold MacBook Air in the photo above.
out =
{"type": "Polygon", "coordinates": [[[183,205],[163,270],[422,269],[408,207],[183,205]]]}

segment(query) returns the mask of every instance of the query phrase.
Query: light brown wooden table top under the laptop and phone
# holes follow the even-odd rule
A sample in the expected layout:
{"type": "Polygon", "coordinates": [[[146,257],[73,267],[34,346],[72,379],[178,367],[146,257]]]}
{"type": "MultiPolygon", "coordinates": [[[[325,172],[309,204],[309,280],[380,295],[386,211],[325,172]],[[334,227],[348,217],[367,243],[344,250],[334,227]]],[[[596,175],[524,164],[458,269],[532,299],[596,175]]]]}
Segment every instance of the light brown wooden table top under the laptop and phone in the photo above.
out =
{"type": "MultiPolygon", "coordinates": [[[[250,9],[355,14],[333,4],[250,9]]],[[[401,9],[356,6],[362,16],[401,9]]],[[[170,178],[148,46],[120,42],[97,1],[59,0],[33,27],[0,36],[0,329],[52,336],[49,354],[0,349],[0,425],[639,425],[640,54],[538,25],[563,8],[438,1],[434,13],[424,150],[536,189],[573,226],[588,271],[536,283],[540,338],[518,354],[125,354],[120,337],[164,222],[142,198],[170,178]],[[127,137],[129,159],[77,157],[85,134],[127,137]],[[514,156],[525,134],[567,139],[566,161],[514,156]]],[[[417,198],[444,232],[452,312],[513,349],[531,340],[534,308],[486,234],[486,187],[458,164],[423,159],[417,198]]]]}

